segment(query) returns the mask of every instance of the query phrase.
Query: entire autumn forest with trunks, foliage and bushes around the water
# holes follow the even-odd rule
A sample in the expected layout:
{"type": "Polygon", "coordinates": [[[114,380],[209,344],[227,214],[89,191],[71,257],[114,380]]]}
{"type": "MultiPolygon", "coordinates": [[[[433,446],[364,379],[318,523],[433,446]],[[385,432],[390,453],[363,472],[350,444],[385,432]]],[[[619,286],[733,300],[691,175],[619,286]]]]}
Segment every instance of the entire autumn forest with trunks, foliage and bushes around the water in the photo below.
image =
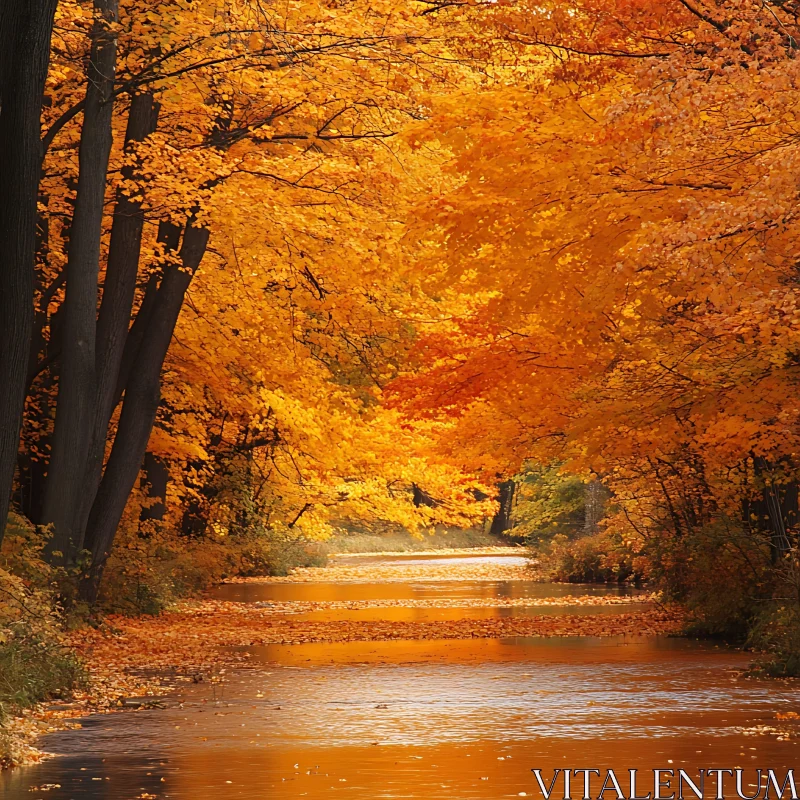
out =
{"type": "Polygon", "coordinates": [[[0,716],[83,685],[74,630],[359,532],[800,673],[799,43],[795,0],[0,0],[0,716]]]}

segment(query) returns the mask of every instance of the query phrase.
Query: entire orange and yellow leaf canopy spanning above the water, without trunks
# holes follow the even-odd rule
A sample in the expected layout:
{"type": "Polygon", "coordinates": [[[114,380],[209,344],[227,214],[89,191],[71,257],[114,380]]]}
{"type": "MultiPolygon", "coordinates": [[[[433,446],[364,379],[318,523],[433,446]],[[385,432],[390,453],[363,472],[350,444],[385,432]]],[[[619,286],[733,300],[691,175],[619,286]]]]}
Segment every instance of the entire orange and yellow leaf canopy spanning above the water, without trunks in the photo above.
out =
{"type": "MultiPolygon", "coordinates": [[[[800,447],[785,12],[298,1],[265,24],[234,0],[168,5],[123,4],[125,79],[165,121],[125,189],[149,222],[194,209],[212,230],[154,439],[187,483],[246,441],[270,524],[311,504],[296,524],[322,536],[342,514],[480,516],[464,472],[492,484],[531,457],[621,492],[691,462],[722,496],[753,448],[800,447]],[[437,511],[406,507],[420,481],[437,511]]],[[[49,122],[82,89],[80,6],[60,13],[49,122]]],[[[74,126],[56,142],[49,279],[74,126]]]]}

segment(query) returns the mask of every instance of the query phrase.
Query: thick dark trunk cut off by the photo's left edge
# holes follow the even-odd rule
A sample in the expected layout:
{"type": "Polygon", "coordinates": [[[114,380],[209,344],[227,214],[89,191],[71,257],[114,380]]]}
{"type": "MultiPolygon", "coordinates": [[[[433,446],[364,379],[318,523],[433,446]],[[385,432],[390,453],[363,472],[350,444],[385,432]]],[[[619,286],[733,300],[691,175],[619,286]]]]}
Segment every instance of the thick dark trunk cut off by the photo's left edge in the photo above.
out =
{"type": "Polygon", "coordinates": [[[33,324],[41,110],[57,0],[0,2],[0,543],[33,324]]]}

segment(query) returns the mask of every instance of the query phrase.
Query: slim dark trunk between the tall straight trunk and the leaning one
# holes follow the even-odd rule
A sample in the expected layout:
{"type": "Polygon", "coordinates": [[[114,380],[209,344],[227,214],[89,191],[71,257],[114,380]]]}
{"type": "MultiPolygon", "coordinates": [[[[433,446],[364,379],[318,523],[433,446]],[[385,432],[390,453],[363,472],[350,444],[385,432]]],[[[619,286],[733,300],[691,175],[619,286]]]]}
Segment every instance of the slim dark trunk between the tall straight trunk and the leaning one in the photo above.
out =
{"type": "MultiPolygon", "coordinates": [[[[134,95],[125,134],[128,154],[135,143],[143,141],[155,131],[158,111],[158,105],[154,103],[152,94],[134,95]]],[[[135,168],[132,165],[125,166],[122,177],[125,180],[134,178],[135,168]]],[[[103,300],[97,320],[95,400],[86,456],[86,474],[80,508],[75,520],[75,531],[81,545],[103,474],[108,424],[117,402],[117,382],[133,309],[136,278],[139,274],[143,229],[144,210],[141,201],[128,197],[125,190],[120,188],[117,191],[117,203],[111,226],[103,300]]]]}

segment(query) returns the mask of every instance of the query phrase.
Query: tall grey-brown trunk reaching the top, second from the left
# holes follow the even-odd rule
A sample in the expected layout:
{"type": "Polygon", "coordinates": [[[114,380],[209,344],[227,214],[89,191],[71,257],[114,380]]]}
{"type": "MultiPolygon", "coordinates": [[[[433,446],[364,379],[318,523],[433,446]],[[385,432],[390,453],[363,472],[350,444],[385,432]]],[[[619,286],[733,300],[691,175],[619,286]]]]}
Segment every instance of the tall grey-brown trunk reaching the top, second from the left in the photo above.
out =
{"type": "Polygon", "coordinates": [[[52,523],[51,557],[70,561],[82,546],[77,528],[96,393],[97,278],[117,63],[118,0],[95,0],[79,150],[78,192],[70,232],[64,299],[64,345],[53,449],[44,500],[52,523]],[[56,554],[60,553],[61,556],[56,554]]]}

